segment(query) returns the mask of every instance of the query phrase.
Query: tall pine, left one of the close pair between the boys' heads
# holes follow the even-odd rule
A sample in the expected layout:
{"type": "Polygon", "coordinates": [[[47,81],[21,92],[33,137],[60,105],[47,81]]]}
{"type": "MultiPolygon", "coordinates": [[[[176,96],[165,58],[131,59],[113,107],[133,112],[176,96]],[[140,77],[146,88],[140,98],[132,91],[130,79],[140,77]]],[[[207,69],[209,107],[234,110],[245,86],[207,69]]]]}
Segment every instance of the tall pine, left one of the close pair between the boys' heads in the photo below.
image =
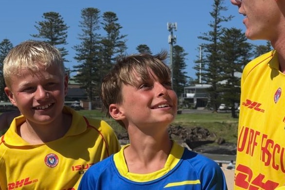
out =
{"type": "Polygon", "coordinates": [[[101,35],[98,34],[100,29],[99,18],[100,11],[97,8],[85,8],[81,11],[79,27],[82,33],[79,34],[79,45],[75,45],[73,49],[76,51],[74,57],[80,64],[74,66],[77,74],[74,76],[75,81],[85,88],[89,99],[92,101],[94,93],[99,95],[98,80],[100,79],[98,68],[101,64],[99,56],[101,35]]]}

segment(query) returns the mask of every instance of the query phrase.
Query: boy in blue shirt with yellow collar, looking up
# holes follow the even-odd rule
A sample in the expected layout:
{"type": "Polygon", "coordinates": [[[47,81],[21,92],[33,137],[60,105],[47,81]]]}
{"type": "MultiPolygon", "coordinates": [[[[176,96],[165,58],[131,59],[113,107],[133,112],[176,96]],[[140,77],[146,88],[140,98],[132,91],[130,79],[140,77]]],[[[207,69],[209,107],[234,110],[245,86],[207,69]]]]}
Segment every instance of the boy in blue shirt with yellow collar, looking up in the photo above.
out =
{"type": "Polygon", "coordinates": [[[227,190],[217,163],[169,138],[178,100],[166,56],[123,57],[103,79],[103,110],[127,130],[130,144],[93,165],[79,190],[227,190]]]}

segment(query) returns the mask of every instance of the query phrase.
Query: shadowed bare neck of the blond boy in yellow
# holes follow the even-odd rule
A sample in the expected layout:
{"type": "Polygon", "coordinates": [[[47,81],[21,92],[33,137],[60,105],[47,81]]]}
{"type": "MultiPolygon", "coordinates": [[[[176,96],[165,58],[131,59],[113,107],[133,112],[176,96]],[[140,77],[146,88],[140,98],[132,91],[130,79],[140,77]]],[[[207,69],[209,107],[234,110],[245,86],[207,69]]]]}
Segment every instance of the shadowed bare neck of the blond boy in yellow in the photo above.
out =
{"type": "Polygon", "coordinates": [[[18,126],[18,135],[31,144],[42,144],[62,138],[71,126],[71,115],[62,114],[52,123],[39,125],[30,121],[18,126]]]}

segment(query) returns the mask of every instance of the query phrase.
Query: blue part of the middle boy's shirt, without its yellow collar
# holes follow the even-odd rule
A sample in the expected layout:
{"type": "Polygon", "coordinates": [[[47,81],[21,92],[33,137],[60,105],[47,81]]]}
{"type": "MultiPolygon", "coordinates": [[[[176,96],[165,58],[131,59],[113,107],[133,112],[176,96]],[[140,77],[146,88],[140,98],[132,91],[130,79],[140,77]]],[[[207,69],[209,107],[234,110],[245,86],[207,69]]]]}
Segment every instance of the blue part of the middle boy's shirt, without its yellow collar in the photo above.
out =
{"type": "Polygon", "coordinates": [[[217,163],[186,148],[182,150],[184,153],[174,168],[147,182],[122,176],[111,155],[89,168],[79,190],[227,190],[224,173],[217,163]]]}

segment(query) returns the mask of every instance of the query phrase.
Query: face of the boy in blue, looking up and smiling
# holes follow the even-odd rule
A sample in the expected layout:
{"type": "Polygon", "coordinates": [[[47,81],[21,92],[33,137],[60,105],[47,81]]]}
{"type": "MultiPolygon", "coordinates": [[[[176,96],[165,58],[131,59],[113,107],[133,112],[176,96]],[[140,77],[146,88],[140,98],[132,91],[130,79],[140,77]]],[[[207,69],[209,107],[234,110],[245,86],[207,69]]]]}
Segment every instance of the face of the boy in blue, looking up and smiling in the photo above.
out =
{"type": "Polygon", "coordinates": [[[154,130],[153,126],[167,126],[175,119],[177,95],[169,81],[160,81],[151,70],[148,73],[148,81],[141,81],[137,76],[138,86],[122,86],[123,103],[117,105],[120,118],[113,117],[112,106],[110,114],[128,126],[151,127],[154,130]]]}

